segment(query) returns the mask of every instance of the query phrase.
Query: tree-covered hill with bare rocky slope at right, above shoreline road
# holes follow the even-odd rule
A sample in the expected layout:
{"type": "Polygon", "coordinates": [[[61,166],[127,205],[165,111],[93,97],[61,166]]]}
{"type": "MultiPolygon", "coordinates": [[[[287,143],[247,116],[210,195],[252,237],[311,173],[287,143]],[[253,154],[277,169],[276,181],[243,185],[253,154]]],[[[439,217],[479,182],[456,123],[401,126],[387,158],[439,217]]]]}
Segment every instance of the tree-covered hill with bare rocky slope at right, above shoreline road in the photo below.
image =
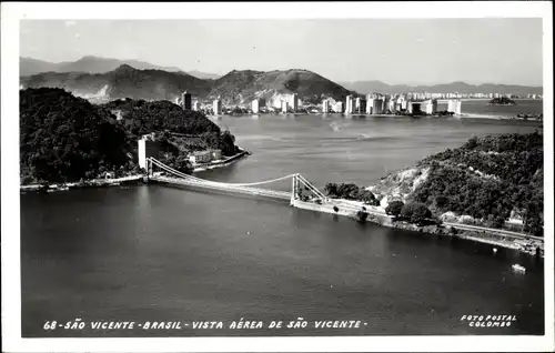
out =
{"type": "Polygon", "coordinates": [[[373,191],[485,226],[521,218],[525,232],[543,235],[543,134],[488,135],[390,174],[373,191]]]}

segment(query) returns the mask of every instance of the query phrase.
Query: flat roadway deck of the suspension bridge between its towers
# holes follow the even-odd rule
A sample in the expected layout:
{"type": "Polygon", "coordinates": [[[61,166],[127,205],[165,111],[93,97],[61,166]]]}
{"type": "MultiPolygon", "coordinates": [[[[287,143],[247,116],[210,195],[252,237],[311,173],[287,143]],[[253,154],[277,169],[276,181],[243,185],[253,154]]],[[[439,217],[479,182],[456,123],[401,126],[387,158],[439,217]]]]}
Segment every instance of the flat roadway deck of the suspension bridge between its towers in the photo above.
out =
{"type": "Polygon", "coordinates": [[[259,188],[250,188],[250,186],[235,186],[235,185],[230,185],[230,184],[223,185],[223,184],[196,181],[193,179],[171,178],[171,176],[151,176],[150,179],[153,181],[169,183],[169,184],[196,186],[196,188],[208,189],[208,190],[238,192],[238,193],[256,195],[256,196],[266,196],[266,198],[274,198],[274,199],[281,199],[281,200],[291,200],[291,192],[286,192],[286,191],[268,190],[268,189],[259,189],[259,188]]]}

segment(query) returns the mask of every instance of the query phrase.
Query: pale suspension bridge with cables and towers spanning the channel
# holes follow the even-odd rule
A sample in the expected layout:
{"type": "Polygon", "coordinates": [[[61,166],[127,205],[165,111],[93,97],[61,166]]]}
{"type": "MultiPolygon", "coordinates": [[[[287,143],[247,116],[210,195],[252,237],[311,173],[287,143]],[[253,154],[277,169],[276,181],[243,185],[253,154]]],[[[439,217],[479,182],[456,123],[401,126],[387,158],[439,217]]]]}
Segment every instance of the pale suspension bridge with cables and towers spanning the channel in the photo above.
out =
{"type": "Polygon", "coordinates": [[[326,195],[324,195],[320,190],[317,190],[303,175],[299,173],[289,174],[271,180],[251,182],[251,183],[223,183],[182,173],[169,165],[165,165],[164,163],[160,162],[154,158],[147,159],[147,167],[150,180],[167,184],[183,185],[193,189],[204,189],[204,190],[224,191],[230,193],[249,194],[255,196],[265,196],[272,199],[290,200],[291,204],[294,204],[294,201],[297,198],[300,198],[301,192],[304,192],[305,194],[307,193],[307,195],[305,195],[306,201],[310,200],[311,202],[317,202],[317,203],[324,203],[329,201],[326,195]],[[157,173],[155,169],[160,170],[161,172],[164,172],[165,175],[163,175],[160,172],[157,173]],[[291,180],[292,188],[290,192],[259,188],[261,185],[276,183],[279,181],[284,181],[284,180],[291,180]]]}

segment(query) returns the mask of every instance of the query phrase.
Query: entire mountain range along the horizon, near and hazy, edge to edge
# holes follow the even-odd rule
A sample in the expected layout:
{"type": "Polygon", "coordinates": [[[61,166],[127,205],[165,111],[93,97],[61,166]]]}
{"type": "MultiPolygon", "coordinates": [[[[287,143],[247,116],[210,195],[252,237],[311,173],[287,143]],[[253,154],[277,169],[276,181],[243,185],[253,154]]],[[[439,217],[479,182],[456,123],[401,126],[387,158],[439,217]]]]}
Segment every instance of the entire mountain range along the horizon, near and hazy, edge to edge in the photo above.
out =
{"type": "Polygon", "coordinates": [[[254,71],[233,70],[223,77],[200,71],[184,72],[175,67],[159,67],[138,60],[83,57],[77,61],[52,63],[20,58],[22,88],[63,88],[75,95],[97,99],[132,98],[173,100],[183,91],[198,99],[221,98],[224,103],[248,103],[253,98],[280,100],[297,93],[304,101],[319,102],[329,97],[344,100],[347,94],[382,92],[460,92],[543,94],[538,87],[453,82],[436,85],[390,85],[381,81],[333,82],[302,69],[254,71]]]}

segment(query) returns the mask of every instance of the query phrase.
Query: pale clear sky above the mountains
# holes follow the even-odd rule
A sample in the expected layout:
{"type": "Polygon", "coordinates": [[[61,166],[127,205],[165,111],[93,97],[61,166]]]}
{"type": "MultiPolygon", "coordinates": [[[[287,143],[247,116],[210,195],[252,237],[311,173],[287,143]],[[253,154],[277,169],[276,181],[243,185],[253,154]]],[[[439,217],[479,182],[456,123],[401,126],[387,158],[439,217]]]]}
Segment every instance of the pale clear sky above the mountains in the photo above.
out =
{"type": "Polygon", "coordinates": [[[542,19],[22,20],[20,56],[183,71],[306,69],[337,82],[542,85],[542,19]]]}

